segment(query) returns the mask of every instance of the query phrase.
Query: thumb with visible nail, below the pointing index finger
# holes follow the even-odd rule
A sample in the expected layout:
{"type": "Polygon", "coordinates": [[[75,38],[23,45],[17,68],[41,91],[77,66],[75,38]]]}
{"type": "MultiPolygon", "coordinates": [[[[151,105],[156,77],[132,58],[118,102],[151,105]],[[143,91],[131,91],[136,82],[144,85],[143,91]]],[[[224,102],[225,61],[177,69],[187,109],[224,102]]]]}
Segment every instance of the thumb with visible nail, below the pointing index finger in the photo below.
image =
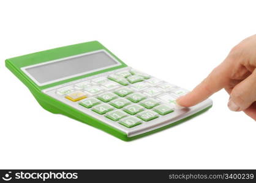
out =
{"type": "Polygon", "coordinates": [[[256,99],[256,70],[233,88],[228,108],[233,111],[247,109],[256,99]]]}

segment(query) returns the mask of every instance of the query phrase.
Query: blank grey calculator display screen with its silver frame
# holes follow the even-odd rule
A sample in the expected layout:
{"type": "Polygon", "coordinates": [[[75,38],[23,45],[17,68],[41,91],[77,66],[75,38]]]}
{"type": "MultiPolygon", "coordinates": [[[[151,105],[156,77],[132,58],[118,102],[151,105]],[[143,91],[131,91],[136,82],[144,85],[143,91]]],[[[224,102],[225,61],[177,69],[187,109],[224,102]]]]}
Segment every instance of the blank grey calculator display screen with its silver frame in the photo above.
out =
{"type": "Polygon", "coordinates": [[[28,66],[24,71],[32,76],[37,84],[43,85],[117,65],[120,63],[108,52],[96,51],[28,66]]]}

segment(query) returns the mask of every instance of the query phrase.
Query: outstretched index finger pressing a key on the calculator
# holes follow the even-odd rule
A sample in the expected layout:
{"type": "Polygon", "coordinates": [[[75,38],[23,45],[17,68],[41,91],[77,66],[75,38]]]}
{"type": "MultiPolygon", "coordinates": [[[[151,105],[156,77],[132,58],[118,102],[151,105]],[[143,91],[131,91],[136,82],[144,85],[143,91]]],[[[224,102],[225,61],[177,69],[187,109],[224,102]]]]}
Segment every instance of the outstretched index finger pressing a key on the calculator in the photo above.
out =
{"type": "Polygon", "coordinates": [[[180,106],[190,107],[209,98],[209,96],[224,88],[228,83],[229,68],[228,62],[222,62],[194,90],[187,93],[187,95],[181,96],[176,102],[180,106]]]}

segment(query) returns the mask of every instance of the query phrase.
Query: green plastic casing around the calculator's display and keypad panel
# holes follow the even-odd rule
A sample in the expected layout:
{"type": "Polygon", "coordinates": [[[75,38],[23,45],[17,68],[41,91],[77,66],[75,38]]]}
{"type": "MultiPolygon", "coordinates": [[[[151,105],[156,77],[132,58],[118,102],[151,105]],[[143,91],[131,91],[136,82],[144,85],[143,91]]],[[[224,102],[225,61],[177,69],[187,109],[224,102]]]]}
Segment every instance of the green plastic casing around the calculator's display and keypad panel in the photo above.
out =
{"type": "Polygon", "coordinates": [[[97,127],[98,129],[101,129],[107,132],[108,134],[114,135],[115,137],[118,137],[124,141],[134,140],[134,139],[152,134],[154,132],[162,131],[163,129],[167,129],[168,127],[174,126],[175,124],[181,123],[183,121],[188,120],[189,118],[195,117],[196,115],[202,112],[205,112],[211,107],[210,106],[206,109],[203,109],[200,112],[195,113],[194,115],[191,115],[190,117],[184,118],[183,120],[179,120],[167,126],[160,127],[159,129],[155,129],[153,131],[146,132],[145,134],[140,134],[134,137],[127,137],[126,133],[119,131],[115,127],[108,126],[108,124],[103,123],[102,121],[99,121],[96,118],[93,118],[89,115],[86,115],[85,113],[80,112],[74,109],[73,107],[70,107],[67,104],[64,104],[58,101],[55,98],[51,98],[50,96],[42,92],[42,90],[45,88],[54,87],[56,85],[61,85],[66,82],[75,81],[77,79],[81,79],[84,77],[105,73],[105,72],[116,70],[119,68],[124,68],[126,66],[127,65],[124,62],[122,62],[120,59],[118,59],[118,57],[116,57],[107,48],[105,48],[102,44],[100,44],[99,41],[90,41],[87,43],[80,43],[77,45],[70,45],[70,46],[64,46],[61,48],[49,49],[46,51],[35,52],[32,54],[27,54],[24,56],[14,57],[6,60],[6,67],[10,71],[12,71],[12,73],[15,74],[15,76],[17,76],[18,79],[20,79],[20,81],[23,82],[23,84],[25,84],[29,88],[32,95],[34,95],[34,97],[39,102],[39,104],[43,107],[43,109],[48,110],[49,112],[52,112],[52,113],[60,113],[62,115],[66,115],[67,117],[70,117],[75,120],[81,121],[83,123],[89,124],[91,126],[97,127]],[[78,77],[73,77],[63,81],[58,81],[53,84],[43,85],[43,86],[37,85],[21,70],[21,68],[24,66],[34,65],[42,62],[48,62],[50,60],[62,59],[65,57],[75,56],[75,55],[83,54],[86,52],[97,51],[99,49],[105,49],[105,51],[110,53],[111,56],[115,57],[115,59],[117,59],[121,63],[121,65],[115,66],[113,68],[101,70],[101,71],[96,71],[94,73],[85,74],[83,76],[78,76],[78,77]]]}

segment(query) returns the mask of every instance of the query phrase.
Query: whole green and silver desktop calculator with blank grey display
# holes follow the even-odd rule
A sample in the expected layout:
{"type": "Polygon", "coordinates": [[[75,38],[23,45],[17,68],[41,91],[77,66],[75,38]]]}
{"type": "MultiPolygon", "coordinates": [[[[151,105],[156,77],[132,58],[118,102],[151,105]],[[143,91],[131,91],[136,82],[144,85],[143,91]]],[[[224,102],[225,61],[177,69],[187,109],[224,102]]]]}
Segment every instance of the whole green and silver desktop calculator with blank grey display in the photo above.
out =
{"type": "Polygon", "coordinates": [[[176,99],[188,90],[126,65],[99,41],[14,57],[6,66],[44,109],[124,141],[167,129],[213,105],[206,99],[178,106],[176,99]]]}

